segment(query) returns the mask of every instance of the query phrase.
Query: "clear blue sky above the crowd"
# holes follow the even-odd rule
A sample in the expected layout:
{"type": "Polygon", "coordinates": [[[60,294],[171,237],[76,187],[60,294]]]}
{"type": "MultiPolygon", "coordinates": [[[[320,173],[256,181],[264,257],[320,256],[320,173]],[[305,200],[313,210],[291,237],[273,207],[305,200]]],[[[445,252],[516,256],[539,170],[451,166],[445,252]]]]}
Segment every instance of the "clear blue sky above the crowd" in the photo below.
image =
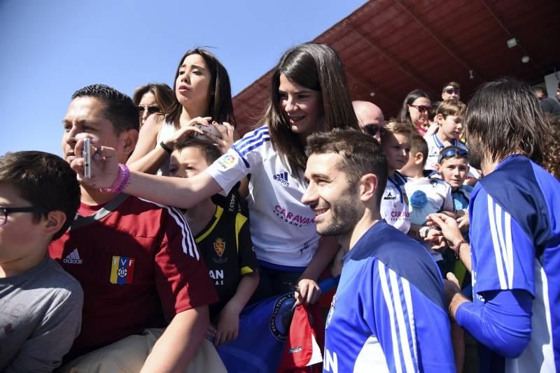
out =
{"type": "Polygon", "coordinates": [[[132,95],[172,85],[186,50],[211,46],[235,95],[288,48],[310,41],[363,0],[0,0],[0,154],[60,154],[61,120],[76,89],[132,95]]]}

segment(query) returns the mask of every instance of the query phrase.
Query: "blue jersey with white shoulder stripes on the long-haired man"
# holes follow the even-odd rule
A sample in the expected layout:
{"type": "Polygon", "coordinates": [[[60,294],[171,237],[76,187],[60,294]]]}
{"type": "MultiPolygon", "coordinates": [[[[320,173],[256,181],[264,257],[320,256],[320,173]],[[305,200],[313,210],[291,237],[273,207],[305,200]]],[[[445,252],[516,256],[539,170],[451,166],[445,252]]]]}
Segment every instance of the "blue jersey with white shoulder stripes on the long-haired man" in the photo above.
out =
{"type": "MultiPolygon", "coordinates": [[[[560,183],[525,156],[510,156],[475,186],[470,200],[472,286],[533,295],[531,342],[518,358],[491,355],[505,372],[560,370],[560,183]],[[552,307],[552,308],[551,308],[552,307]]],[[[493,370],[496,372],[496,370],[493,370]]]]}

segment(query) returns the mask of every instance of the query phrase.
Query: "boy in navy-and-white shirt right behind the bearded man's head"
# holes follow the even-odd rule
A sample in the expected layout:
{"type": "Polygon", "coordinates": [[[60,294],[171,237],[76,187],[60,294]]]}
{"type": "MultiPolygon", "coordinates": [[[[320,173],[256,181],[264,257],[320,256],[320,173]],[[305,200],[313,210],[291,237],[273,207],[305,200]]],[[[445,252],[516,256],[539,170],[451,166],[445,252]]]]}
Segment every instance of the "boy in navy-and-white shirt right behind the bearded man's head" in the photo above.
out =
{"type": "Polygon", "coordinates": [[[406,234],[410,228],[408,198],[405,191],[407,180],[397,170],[404,167],[408,161],[412,127],[393,120],[387,124],[385,130],[381,136],[381,148],[387,158],[388,177],[379,205],[381,219],[385,219],[389,225],[406,234]]]}

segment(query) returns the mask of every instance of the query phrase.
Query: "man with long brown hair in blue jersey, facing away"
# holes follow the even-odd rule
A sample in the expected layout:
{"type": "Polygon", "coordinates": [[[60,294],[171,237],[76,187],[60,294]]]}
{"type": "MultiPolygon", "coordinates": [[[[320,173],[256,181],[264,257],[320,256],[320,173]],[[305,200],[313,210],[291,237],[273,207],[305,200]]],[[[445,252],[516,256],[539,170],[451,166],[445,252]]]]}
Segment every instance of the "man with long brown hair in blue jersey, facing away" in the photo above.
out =
{"type": "Polygon", "coordinates": [[[453,221],[438,222],[472,268],[474,301],[447,282],[449,312],[487,347],[481,372],[560,371],[551,308],[560,301],[560,184],[535,163],[548,124],[531,87],[511,79],[479,89],[465,122],[470,163],[485,177],[471,193],[470,247],[453,221]]]}

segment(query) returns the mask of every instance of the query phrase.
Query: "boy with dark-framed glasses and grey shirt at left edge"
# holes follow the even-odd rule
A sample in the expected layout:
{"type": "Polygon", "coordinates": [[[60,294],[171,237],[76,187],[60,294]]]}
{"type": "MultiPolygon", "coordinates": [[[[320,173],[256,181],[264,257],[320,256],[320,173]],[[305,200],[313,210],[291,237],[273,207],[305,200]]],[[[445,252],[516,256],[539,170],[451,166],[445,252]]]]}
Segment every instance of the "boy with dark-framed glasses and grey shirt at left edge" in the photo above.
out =
{"type": "Polygon", "coordinates": [[[80,205],[58,156],[0,157],[0,371],[52,372],[80,332],[83,291],[47,254],[80,205]]]}

